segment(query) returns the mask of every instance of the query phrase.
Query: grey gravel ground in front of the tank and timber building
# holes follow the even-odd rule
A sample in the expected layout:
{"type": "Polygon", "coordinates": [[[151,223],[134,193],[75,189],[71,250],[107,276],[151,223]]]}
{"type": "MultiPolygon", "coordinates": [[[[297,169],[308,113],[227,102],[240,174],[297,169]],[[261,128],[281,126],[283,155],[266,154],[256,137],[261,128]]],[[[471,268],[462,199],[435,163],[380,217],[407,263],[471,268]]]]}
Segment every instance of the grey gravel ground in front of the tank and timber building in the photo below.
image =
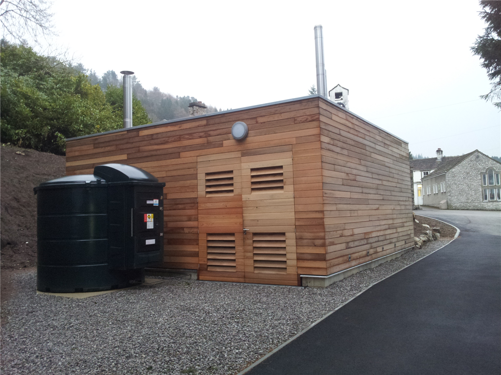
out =
{"type": "Polygon", "coordinates": [[[74,299],[37,294],[35,272],[15,274],[0,373],[233,374],[449,240],[322,289],[177,278],[74,299]]]}

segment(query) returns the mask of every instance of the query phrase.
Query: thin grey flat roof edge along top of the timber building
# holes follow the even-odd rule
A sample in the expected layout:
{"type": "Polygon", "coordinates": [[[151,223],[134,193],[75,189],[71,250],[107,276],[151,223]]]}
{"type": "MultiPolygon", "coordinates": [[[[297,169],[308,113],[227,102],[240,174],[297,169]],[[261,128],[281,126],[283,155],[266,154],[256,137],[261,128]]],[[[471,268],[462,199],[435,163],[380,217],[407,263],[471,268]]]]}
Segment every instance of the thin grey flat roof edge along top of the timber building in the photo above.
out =
{"type": "Polygon", "coordinates": [[[265,104],[257,104],[257,105],[250,105],[250,106],[247,106],[247,107],[242,107],[242,108],[236,108],[236,109],[228,109],[228,110],[222,110],[220,112],[212,112],[212,113],[207,113],[207,114],[200,114],[198,116],[191,116],[191,117],[181,117],[181,118],[175,118],[175,119],[172,119],[172,120],[168,120],[168,121],[158,121],[158,122],[153,122],[153,123],[147,123],[147,124],[144,124],[144,125],[137,125],[137,126],[132,126],[132,127],[126,127],[126,128],[121,128],[121,129],[115,129],[115,130],[109,130],[109,131],[103,131],[102,133],[94,133],[94,134],[87,134],[87,135],[81,135],[81,136],[76,136],[76,137],[72,137],[72,138],[67,138],[66,140],[76,140],[76,139],[83,139],[83,138],[90,138],[90,137],[93,137],[93,136],[99,136],[99,135],[104,135],[104,134],[112,134],[112,133],[118,133],[118,132],[121,132],[121,131],[128,131],[128,130],[131,130],[131,129],[140,129],[140,128],[144,128],[144,127],[149,127],[149,126],[155,126],[155,125],[166,125],[166,124],[170,124],[170,123],[174,123],[174,122],[179,122],[179,121],[185,121],[187,119],[198,119],[198,118],[204,118],[204,117],[209,117],[209,116],[214,116],[214,115],[217,115],[217,114],[224,114],[224,113],[233,113],[233,112],[237,112],[237,111],[240,111],[240,110],[246,110],[246,109],[255,109],[255,108],[260,108],[260,107],[265,107],[265,106],[269,106],[269,105],[276,105],[276,104],[283,104],[283,103],[289,103],[289,102],[292,102],[292,101],[298,101],[298,100],[304,100],[304,99],[310,99],[310,98],[321,98],[321,99],[324,99],[325,101],[329,102],[329,103],[332,103],[334,105],[336,105],[337,108],[339,109],[342,109],[348,113],[350,113],[352,116],[354,117],[357,117],[365,122],[367,122],[368,124],[374,126],[374,127],[377,127],[378,129],[384,131],[385,133],[388,133],[390,134],[391,136],[394,136],[395,138],[401,140],[402,142],[406,143],[406,144],[409,144],[409,142],[407,142],[406,140],[396,136],[395,134],[393,133],[390,133],[388,130],[385,130],[383,129],[382,127],[372,123],[371,121],[368,121],[366,120],[365,118],[359,116],[358,114],[356,113],[353,113],[352,111],[350,111],[349,109],[346,109],[340,105],[337,105],[334,101],[330,100],[329,98],[325,97],[325,96],[322,96],[320,94],[315,94],[315,95],[307,95],[307,96],[301,96],[301,97],[295,97],[295,98],[292,98],[292,99],[286,99],[286,100],[279,100],[279,101],[272,101],[272,102],[269,102],[269,103],[265,103],[265,104]]]}

